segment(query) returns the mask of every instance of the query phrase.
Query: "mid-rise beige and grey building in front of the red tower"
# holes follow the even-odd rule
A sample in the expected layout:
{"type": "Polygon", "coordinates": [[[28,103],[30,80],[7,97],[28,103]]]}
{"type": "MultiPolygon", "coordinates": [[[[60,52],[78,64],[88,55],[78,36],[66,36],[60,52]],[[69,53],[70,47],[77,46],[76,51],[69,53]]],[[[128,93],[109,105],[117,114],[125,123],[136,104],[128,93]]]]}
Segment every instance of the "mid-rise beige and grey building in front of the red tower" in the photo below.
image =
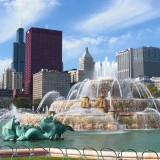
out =
{"type": "Polygon", "coordinates": [[[66,72],[47,69],[33,74],[33,100],[42,98],[47,92],[53,90],[66,97],[70,90],[70,75],[66,72]]]}

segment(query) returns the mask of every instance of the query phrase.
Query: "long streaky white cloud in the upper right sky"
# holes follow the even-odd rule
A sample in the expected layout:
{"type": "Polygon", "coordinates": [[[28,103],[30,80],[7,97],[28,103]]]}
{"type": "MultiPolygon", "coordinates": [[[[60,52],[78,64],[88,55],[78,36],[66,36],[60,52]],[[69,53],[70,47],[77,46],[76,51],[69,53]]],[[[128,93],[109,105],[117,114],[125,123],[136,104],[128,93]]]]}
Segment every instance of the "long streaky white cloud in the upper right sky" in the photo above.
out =
{"type": "Polygon", "coordinates": [[[160,1],[113,0],[105,11],[79,22],[76,29],[87,33],[114,31],[160,17],[160,1]]]}

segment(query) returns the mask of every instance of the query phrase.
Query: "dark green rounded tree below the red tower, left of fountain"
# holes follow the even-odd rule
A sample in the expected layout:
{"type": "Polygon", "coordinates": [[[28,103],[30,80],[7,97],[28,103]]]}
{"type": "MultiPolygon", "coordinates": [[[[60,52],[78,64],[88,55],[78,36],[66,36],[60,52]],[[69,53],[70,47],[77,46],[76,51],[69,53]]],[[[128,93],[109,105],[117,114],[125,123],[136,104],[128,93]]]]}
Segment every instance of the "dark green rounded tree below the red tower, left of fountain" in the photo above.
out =
{"type": "Polygon", "coordinates": [[[17,108],[31,108],[31,100],[27,97],[14,98],[13,104],[17,108]]]}

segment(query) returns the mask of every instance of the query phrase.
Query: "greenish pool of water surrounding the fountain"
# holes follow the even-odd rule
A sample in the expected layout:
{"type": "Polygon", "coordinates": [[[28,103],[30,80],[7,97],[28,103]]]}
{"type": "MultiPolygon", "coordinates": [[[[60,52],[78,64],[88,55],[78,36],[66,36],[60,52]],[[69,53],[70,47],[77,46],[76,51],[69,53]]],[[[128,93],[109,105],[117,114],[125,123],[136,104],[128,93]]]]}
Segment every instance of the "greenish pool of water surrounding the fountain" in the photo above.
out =
{"type": "MultiPolygon", "coordinates": [[[[5,122],[0,122],[0,135],[2,136],[2,126],[5,122]]],[[[136,151],[144,151],[147,149],[160,152],[160,129],[156,130],[124,130],[124,131],[67,131],[64,134],[64,140],[36,140],[36,141],[3,141],[0,144],[11,145],[27,145],[29,147],[76,147],[82,149],[84,147],[92,147],[101,149],[109,147],[114,150],[122,150],[124,148],[132,148],[136,151]]]]}

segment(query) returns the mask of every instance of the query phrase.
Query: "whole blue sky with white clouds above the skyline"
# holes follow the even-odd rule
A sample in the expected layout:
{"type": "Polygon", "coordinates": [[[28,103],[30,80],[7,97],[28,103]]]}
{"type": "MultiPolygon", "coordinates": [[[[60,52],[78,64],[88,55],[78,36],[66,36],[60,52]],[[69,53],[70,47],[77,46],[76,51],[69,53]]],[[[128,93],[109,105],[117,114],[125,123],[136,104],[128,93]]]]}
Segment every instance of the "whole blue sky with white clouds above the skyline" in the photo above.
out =
{"type": "Polygon", "coordinates": [[[85,47],[95,61],[141,46],[160,47],[159,0],[0,0],[0,74],[10,67],[20,21],[27,31],[63,31],[64,69],[78,68],[85,47]]]}

